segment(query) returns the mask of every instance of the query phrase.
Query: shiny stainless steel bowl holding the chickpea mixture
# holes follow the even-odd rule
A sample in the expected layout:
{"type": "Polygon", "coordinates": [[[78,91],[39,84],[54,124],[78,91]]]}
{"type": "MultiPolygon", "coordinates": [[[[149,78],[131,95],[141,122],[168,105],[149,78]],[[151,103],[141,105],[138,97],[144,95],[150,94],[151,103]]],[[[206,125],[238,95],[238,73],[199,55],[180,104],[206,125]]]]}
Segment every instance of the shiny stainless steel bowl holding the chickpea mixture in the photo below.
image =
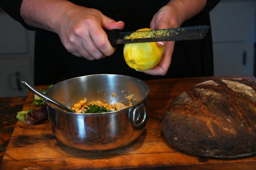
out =
{"type": "Polygon", "coordinates": [[[84,98],[129,105],[126,97],[132,94],[136,100],[131,107],[107,113],[71,113],[46,101],[52,132],[62,143],[86,151],[126,146],[145,129],[148,93],[145,82],[122,75],[90,75],[57,83],[46,94],[67,107],[84,98]]]}

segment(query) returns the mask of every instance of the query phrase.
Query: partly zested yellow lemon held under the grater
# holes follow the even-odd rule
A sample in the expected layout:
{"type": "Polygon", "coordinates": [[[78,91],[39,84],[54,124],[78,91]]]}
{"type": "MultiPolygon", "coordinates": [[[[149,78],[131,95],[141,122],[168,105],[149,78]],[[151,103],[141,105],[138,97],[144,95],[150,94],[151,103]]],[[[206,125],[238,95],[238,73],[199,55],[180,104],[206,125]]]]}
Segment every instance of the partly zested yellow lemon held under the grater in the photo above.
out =
{"type": "MultiPolygon", "coordinates": [[[[147,31],[143,28],[137,31],[147,31]]],[[[161,60],[164,46],[158,46],[155,42],[131,43],[124,46],[124,58],[127,65],[139,71],[145,71],[155,67],[161,60]]]]}

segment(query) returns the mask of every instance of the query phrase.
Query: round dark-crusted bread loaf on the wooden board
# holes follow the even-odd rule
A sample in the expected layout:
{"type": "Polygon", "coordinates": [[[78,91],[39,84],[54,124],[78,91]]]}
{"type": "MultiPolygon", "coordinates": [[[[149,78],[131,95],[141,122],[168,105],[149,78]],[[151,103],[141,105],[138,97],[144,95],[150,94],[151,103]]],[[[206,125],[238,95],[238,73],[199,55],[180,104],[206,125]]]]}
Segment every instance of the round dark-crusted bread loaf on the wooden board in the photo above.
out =
{"type": "Polygon", "coordinates": [[[239,157],[256,152],[256,83],[209,80],[179,95],[162,119],[168,143],[192,154],[239,157]]]}

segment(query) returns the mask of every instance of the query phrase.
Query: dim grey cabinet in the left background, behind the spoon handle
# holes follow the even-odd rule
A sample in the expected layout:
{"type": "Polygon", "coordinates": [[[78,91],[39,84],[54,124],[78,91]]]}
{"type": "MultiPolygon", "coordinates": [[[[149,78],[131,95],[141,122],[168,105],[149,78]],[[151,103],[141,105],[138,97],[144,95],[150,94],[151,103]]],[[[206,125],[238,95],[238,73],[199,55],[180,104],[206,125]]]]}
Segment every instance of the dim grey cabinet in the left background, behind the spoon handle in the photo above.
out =
{"type": "Polygon", "coordinates": [[[0,12],[0,97],[27,96],[19,82],[33,83],[34,32],[0,12]]]}

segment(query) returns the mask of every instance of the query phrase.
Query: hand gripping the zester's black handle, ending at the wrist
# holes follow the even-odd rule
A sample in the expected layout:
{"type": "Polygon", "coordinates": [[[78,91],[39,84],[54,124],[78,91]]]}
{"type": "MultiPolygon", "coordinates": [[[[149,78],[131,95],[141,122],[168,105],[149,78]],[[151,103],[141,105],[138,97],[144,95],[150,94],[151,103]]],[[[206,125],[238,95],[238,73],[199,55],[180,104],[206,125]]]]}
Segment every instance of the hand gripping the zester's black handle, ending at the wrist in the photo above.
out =
{"type": "Polygon", "coordinates": [[[57,33],[69,52],[88,60],[100,59],[114,53],[115,49],[103,29],[123,29],[123,22],[116,22],[98,10],[82,6],[72,5],[68,11],[61,18],[57,33]]]}

